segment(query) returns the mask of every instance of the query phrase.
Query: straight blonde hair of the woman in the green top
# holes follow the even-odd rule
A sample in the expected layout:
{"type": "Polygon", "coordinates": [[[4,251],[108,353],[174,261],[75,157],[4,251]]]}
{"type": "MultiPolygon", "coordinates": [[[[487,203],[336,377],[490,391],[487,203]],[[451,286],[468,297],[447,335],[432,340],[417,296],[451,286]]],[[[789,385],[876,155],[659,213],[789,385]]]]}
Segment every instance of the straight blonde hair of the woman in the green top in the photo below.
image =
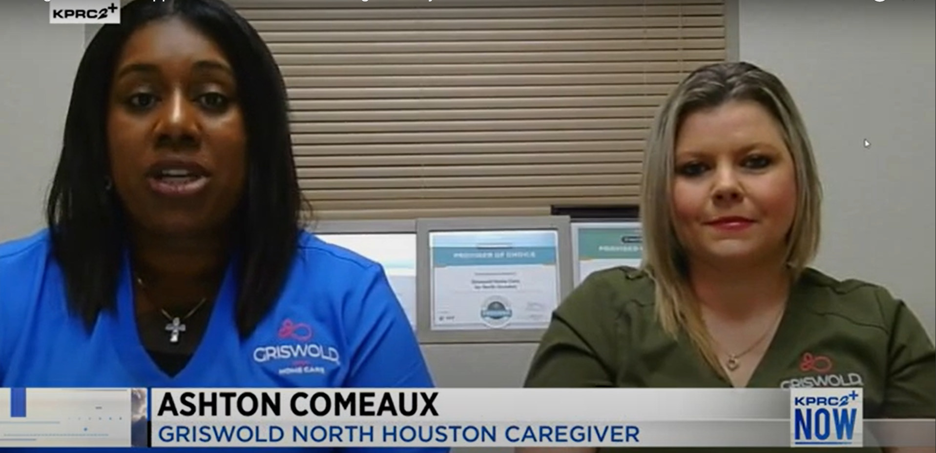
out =
{"type": "Polygon", "coordinates": [[[716,370],[718,355],[688,282],[685,251],[673,223],[672,183],[675,143],[689,114],[729,101],[763,106],[781,129],[793,158],[797,209],[787,235],[786,262],[794,278],[812,262],[819,247],[822,187],[806,127],[790,93],[773,74],[748,63],[710,64],[696,69],[666,99],[653,121],[644,152],[640,218],[644,234],[642,267],[655,285],[657,317],[666,333],[681,332],[716,370]]]}

